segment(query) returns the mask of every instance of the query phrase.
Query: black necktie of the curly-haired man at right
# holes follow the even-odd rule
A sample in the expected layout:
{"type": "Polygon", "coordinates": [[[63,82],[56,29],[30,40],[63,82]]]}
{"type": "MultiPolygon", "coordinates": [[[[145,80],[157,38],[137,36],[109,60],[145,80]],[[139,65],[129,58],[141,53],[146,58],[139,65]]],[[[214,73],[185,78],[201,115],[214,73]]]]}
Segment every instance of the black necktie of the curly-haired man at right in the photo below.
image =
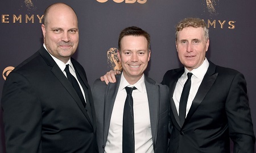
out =
{"type": "Polygon", "coordinates": [[[180,96],[180,105],[179,105],[179,118],[180,118],[180,125],[182,126],[185,121],[186,116],[186,107],[188,102],[188,94],[191,87],[191,76],[192,73],[188,73],[188,79],[184,84],[181,96],[180,96]]]}

